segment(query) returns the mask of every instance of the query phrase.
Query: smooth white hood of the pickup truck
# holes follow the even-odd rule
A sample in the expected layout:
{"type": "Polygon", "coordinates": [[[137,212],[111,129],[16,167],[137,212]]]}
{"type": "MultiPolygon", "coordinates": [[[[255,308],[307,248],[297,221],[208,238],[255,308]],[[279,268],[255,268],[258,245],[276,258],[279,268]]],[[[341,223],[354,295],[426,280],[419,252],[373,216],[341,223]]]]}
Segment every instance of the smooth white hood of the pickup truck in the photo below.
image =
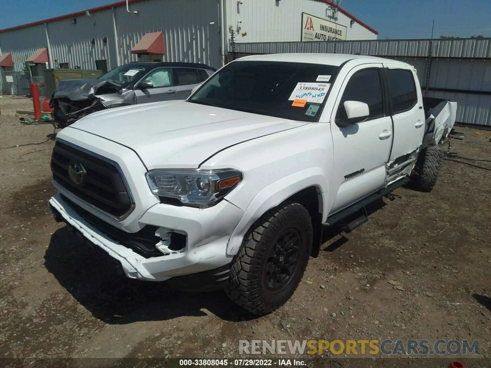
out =
{"type": "Polygon", "coordinates": [[[169,101],[95,112],[65,129],[86,131],[129,147],[151,170],[197,168],[227,147],[305,124],[169,101]]]}

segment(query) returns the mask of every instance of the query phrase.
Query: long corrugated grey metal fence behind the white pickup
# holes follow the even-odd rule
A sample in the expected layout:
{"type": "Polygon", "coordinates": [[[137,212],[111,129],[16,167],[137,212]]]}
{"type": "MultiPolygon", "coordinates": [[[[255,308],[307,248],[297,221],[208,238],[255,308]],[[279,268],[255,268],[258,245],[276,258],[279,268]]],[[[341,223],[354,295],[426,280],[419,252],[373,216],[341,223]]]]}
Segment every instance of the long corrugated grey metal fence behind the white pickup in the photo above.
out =
{"type": "Polygon", "coordinates": [[[236,43],[228,61],[265,53],[348,53],[413,65],[423,94],[457,101],[457,121],[491,126],[491,38],[236,43]]]}

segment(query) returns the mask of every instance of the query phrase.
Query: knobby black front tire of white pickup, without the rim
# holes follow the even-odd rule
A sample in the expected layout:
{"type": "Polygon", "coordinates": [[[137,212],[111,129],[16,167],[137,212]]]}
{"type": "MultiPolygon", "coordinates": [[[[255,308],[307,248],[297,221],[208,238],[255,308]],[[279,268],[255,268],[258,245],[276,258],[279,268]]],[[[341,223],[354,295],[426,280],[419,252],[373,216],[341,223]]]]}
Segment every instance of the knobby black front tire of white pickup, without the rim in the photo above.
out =
{"type": "Polygon", "coordinates": [[[236,304],[256,315],[266,315],[290,299],[305,272],[312,249],[312,220],[295,202],[284,202],[252,225],[230,267],[225,292],[236,304]],[[300,235],[298,261],[289,282],[276,292],[267,289],[264,271],[269,251],[286,231],[300,235]]]}

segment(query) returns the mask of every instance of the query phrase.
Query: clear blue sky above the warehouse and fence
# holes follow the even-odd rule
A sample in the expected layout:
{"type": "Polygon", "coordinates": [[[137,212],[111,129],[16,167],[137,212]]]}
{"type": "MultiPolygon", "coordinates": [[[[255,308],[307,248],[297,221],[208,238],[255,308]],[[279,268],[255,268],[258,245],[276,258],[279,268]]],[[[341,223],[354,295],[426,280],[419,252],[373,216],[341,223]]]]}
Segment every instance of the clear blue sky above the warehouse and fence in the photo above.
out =
{"type": "MultiPolygon", "coordinates": [[[[115,0],[0,0],[0,28],[17,26],[115,0]]],[[[185,1],[185,0],[182,0],[185,1]]],[[[285,0],[294,1],[294,0],[285,0]]],[[[341,0],[341,7],[379,31],[379,39],[440,35],[491,37],[491,0],[341,0]]]]}

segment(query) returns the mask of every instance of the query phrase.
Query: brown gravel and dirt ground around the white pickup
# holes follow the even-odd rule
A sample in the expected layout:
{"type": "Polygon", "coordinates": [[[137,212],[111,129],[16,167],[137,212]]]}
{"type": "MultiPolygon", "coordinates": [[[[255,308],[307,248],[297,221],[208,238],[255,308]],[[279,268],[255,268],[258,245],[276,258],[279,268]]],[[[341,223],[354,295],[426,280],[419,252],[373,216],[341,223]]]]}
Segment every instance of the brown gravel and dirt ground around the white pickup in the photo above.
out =
{"type": "MultiPolygon", "coordinates": [[[[399,188],[354,232],[326,234],[292,299],[257,318],[222,292],[122,278],[57,224],[53,127],[21,124],[29,104],[0,99],[0,357],[238,357],[239,339],[467,339],[491,357],[490,162],[446,159],[431,193],[399,188]]],[[[457,130],[452,152],[491,158],[490,132],[457,130]]]]}

